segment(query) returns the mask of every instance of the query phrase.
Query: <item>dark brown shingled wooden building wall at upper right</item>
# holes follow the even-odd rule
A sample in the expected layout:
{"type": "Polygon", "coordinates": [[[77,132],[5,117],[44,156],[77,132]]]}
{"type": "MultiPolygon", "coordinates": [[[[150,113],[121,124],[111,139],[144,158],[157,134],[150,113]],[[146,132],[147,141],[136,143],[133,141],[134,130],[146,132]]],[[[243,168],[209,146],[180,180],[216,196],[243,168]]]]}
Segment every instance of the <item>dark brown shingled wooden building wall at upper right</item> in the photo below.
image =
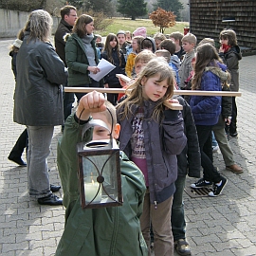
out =
{"type": "Polygon", "coordinates": [[[200,42],[205,37],[219,46],[219,33],[223,28],[235,30],[238,45],[256,49],[256,0],[190,0],[191,32],[200,42]],[[235,22],[224,23],[226,17],[235,22]]]}

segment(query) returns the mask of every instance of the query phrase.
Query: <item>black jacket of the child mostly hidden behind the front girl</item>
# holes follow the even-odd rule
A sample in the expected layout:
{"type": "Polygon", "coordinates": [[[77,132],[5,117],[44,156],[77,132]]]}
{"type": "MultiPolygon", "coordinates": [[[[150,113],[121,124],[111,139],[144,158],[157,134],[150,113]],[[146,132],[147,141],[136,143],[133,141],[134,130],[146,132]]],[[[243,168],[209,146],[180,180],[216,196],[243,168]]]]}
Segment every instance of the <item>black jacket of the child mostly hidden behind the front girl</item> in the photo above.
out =
{"type": "Polygon", "coordinates": [[[182,97],[177,96],[174,99],[183,106],[184,134],[187,137],[187,145],[181,154],[177,155],[178,176],[189,174],[190,177],[200,177],[201,155],[192,110],[188,102],[182,97]]]}

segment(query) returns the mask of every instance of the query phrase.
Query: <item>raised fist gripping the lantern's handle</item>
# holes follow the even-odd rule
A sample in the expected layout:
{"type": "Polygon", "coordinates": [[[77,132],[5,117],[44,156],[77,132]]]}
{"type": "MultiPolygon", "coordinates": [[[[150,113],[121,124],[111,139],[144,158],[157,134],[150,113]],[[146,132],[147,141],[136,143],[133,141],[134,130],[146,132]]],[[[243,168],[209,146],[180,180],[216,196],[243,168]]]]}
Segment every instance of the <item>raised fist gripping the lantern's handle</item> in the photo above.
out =
{"type": "Polygon", "coordinates": [[[79,101],[76,116],[82,120],[87,120],[91,113],[102,112],[105,110],[106,106],[103,94],[97,91],[92,91],[82,96],[79,101]]]}

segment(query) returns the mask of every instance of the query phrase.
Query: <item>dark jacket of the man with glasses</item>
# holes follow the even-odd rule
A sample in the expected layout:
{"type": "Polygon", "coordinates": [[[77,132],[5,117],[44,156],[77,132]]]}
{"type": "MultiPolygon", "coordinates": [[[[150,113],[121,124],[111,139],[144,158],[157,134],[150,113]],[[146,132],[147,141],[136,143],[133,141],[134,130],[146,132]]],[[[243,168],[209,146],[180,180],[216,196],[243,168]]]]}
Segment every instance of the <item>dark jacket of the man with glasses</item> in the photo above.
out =
{"type": "Polygon", "coordinates": [[[68,23],[66,23],[64,20],[61,20],[59,26],[57,27],[57,30],[54,35],[54,42],[55,42],[55,48],[56,52],[60,56],[60,58],[64,61],[65,66],[65,53],[64,53],[64,35],[67,33],[70,33],[72,31],[72,26],[70,26],[68,23]]]}

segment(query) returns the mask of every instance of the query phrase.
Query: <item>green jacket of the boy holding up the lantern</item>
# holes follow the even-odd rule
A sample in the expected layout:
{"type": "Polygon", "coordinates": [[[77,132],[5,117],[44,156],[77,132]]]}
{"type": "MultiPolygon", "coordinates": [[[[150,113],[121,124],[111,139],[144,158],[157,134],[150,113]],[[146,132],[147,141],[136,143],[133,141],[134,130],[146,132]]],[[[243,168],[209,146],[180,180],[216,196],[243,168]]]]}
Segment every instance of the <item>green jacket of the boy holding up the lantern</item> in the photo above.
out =
{"type": "MultiPolygon", "coordinates": [[[[66,119],[64,137],[58,144],[58,168],[66,207],[64,234],[56,256],[147,256],[139,216],[146,191],[144,176],[126,155],[120,154],[123,205],[84,210],[80,204],[78,157],[82,125],[73,116],[66,119]]],[[[91,137],[86,132],[83,140],[91,137]]]]}

